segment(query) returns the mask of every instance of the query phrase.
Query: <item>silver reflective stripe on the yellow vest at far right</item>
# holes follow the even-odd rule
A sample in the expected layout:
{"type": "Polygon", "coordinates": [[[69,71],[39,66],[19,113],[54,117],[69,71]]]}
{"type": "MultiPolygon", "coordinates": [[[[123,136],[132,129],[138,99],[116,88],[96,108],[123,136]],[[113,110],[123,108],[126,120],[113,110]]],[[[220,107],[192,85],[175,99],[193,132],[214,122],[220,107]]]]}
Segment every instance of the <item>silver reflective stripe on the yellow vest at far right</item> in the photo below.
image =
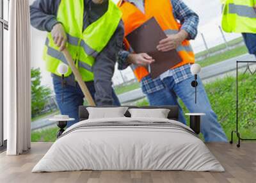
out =
{"type": "Polygon", "coordinates": [[[228,12],[237,14],[241,17],[256,18],[256,12],[254,8],[250,6],[228,4],[228,12]]]}

